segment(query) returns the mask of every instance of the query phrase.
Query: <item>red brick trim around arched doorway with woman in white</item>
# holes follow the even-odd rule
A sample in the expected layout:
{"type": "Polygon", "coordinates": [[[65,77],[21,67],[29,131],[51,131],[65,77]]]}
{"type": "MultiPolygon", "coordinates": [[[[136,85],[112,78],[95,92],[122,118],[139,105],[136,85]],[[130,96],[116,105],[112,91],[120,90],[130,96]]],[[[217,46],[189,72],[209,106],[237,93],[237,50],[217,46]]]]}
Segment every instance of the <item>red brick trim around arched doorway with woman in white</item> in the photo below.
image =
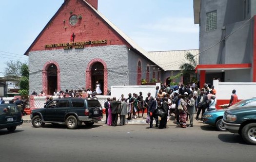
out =
{"type": "Polygon", "coordinates": [[[95,64],[95,63],[101,63],[103,66],[104,66],[104,87],[103,87],[103,95],[106,95],[107,92],[108,92],[108,70],[107,70],[107,64],[102,60],[102,59],[99,59],[99,58],[95,58],[93,60],[91,60],[88,65],[87,65],[87,68],[86,68],[86,71],[85,71],[85,88],[91,88],[91,84],[92,84],[92,66],[95,64]]]}

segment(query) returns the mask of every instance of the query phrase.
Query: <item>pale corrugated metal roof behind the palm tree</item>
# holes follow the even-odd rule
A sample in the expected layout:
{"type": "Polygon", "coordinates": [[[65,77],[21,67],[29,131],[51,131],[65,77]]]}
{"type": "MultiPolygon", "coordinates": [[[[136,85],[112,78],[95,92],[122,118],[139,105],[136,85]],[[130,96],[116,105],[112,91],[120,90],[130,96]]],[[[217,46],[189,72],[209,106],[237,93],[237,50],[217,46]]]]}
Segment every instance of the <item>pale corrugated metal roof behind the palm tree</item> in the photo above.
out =
{"type": "Polygon", "coordinates": [[[155,51],[148,52],[150,58],[156,60],[156,64],[159,65],[164,71],[179,70],[179,66],[184,63],[188,63],[185,58],[187,52],[192,53],[196,57],[197,65],[199,61],[199,50],[170,50],[170,51],[155,51]]]}

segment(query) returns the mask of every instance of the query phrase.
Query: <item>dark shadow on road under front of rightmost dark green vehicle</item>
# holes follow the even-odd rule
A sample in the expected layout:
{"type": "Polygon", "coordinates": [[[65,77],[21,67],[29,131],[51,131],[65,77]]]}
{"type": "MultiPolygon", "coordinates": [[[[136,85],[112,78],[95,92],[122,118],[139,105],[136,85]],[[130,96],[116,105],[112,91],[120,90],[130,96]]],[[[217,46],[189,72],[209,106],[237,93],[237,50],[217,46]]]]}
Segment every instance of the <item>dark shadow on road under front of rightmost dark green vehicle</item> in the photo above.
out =
{"type": "Polygon", "coordinates": [[[219,134],[218,139],[220,139],[222,142],[226,143],[238,143],[243,145],[248,145],[244,142],[242,136],[238,134],[219,134]]]}

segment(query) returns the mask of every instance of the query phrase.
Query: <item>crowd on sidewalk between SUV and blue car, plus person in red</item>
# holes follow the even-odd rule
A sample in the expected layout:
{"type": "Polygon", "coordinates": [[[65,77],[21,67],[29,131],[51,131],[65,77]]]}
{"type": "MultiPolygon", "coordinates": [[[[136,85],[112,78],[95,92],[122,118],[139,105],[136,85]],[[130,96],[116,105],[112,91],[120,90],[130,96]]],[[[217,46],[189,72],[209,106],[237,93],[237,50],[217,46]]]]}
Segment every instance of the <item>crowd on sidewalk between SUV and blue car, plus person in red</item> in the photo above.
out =
{"type": "MultiPolygon", "coordinates": [[[[236,90],[233,90],[232,93],[229,106],[237,102],[236,90]]],[[[147,97],[143,98],[142,92],[139,92],[139,95],[129,93],[127,98],[121,95],[118,100],[116,97],[107,98],[104,103],[105,124],[117,126],[119,114],[119,125],[125,125],[124,118],[126,115],[128,115],[127,120],[136,119],[137,117],[144,117],[145,110],[147,110],[146,115],[150,120],[150,128],[154,128],[153,120],[156,121],[155,128],[167,128],[167,122],[171,120],[172,114],[175,115],[176,124],[181,128],[193,127],[194,114],[196,114],[196,120],[202,120],[205,111],[216,109],[216,94],[215,87],[211,86],[210,88],[205,83],[201,89],[198,88],[197,84],[180,84],[173,89],[169,86],[157,86],[154,97],[148,93],[147,97]],[[140,112],[142,113],[141,116],[140,112]],[[201,117],[199,118],[200,114],[201,117]]]]}

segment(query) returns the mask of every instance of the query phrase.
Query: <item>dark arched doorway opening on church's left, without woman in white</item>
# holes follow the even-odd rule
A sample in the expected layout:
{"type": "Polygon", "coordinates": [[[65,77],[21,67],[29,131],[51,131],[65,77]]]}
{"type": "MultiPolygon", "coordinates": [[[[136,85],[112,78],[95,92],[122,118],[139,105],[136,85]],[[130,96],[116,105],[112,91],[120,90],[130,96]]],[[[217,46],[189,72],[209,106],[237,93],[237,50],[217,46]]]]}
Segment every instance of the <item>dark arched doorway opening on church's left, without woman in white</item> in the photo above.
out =
{"type": "Polygon", "coordinates": [[[47,68],[47,81],[48,81],[47,94],[53,94],[55,89],[58,89],[58,74],[57,74],[57,66],[55,64],[51,64],[47,68]]]}

